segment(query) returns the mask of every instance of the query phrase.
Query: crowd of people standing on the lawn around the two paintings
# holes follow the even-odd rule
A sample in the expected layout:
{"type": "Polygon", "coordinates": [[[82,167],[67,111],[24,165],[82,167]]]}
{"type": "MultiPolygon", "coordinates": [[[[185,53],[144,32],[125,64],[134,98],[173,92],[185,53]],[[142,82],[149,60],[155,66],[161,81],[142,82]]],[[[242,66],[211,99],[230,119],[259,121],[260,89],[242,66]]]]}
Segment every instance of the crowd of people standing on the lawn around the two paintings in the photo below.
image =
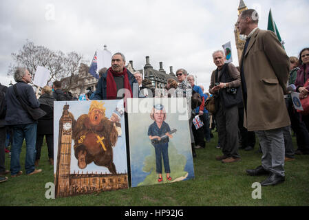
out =
{"type": "MultiPolygon", "coordinates": [[[[239,67],[226,63],[222,50],[213,52],[217,67],[211,74],[209,93],[195,85],[195,78],[186,69],[176,71],[177,80],[167,80],[164,93],[158,92],[140,72],[131,73],[125,67],[125,56],[118,52],[111,58],[111,67],[100,70],[96,91],[88,94],[88,100],[115,100],[122,98],[184,97],[187,100],[191,149],[205,148],[213,134],[215,122],[218,132],[218,148],[222,155],[215,159],[228,164],[241,160],[239,148],[252,151],[255,138],[262,152],[261,165],[248,169],[251,176],[268,175],[262,186],[276,185],[285,180],[284,163],[295,159],[295,154],[309,154],[309,116],[295,110],[288,92],[299,92],[299,97],[309,95],[309,48],[304,48],[297,57],[288,57],[273,32],[260,30],[255,10],[245,10],[236,24],[240,34],[246,35],[246,44],[239,67]],[[124,89],[124,92],[119,92],[124,89]],[[137,89],[138,92],[135,92],[137,89]],[[291,90],[290,90],[291,91],[291,90]],[[209,113],[206,100],[213,97],[215,113],[209,113]],[[204,126],[196,128],[193,118],[200,118],[204,126]],[[292,146],[291,129],[297,139],[297,151],[292,146]]],[[[6,181],[9,174],[17,177],[23,172],[19,162],[21,147],[25,140],[25,173],[41,173],[38,169],[43,138],[47,143],[50,164],[54,164],[53,111],[54,101],[72,100],[70,94],[61,90],[61,82],[43,87],[41,97],[36,98],[30,85],[31,74],[19,67],[14,72],[14,86],[0,85],[1,98],[6,102],[6,114],[0,119],[0,175],[6,181]],[[23,102],[23,103],[21,103],[23,102]],[[24,105],[40,108],[45,115],[34,120],[24,105]],[[5,167],[5,142],[12,131],[10,170],[5,167]]],[[[127,122],[127,113],[125,113],[127,122]]],[[[126,123],[127,124],[127,123],[126,123]]],[[[127,129],[127,126],[126,126],[127,129]]],[[[128,133],[127,133],[128,134],[128,133]]],[[[126,134],[126,135],[127,135],[126,134]]],[[[126,138],[129,140],[129,138],[126,138]]],[[[128,141],[127,141],[128,144],[128,141]]],[[[159,151],[158,151],[159,152],[159,151]]],[[[164,155],[163,155],[164,157],[164,155]]],[[[165,170],[169,175],[169,170],[165,170]]],[[[158,170],[162,179],[162,168],[158,170]]]]}

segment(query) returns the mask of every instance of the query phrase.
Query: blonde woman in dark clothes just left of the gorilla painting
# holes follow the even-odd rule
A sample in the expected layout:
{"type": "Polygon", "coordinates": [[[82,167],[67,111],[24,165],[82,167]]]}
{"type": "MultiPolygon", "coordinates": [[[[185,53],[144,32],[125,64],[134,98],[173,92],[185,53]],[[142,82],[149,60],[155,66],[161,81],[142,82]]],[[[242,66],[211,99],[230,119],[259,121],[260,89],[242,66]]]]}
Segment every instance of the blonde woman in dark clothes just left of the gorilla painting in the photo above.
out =
{"type": "Polygon", "coordinates": [[[39,102],[40,108],[46,112],[46,115],[38,120],[38,128],[36,130],[35,166],[39,166],[44,135],[48,148],[50,164],[54,164],[54,101],[55,99],[52,96],[52,88],[45,85],[42,89],[42,95],[39,98],[39,102]]]}

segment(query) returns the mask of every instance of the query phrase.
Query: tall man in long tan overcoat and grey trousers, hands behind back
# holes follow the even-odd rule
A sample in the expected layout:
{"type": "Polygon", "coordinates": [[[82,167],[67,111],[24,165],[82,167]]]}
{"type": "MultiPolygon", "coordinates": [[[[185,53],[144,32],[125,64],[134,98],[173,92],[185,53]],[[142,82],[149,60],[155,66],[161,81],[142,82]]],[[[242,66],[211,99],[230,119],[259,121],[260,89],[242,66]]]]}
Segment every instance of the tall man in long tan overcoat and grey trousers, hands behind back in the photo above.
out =
{"type": "Polygon", "coordinates": [[[290,124],[284,102],[289,59],[274,32],[259,30],[255,10],[239,14],[237,28],[247,36],[239,64],[244,98],[244,126],[259,137],[262,166],[246,170],[249,175],[267,175],[262,186],[285,180],[283,128],[290,124]]]}

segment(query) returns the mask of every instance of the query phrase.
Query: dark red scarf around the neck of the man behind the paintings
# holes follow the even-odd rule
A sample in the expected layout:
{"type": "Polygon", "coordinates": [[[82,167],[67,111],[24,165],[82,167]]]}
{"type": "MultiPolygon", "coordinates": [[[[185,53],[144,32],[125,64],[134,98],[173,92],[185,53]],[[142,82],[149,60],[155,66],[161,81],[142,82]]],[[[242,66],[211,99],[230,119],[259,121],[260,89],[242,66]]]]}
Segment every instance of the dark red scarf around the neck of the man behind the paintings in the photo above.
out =
{"type": "Polygon", "coordinates": [[[131,89],[131,85],[129,83],[129,76],[127,74],[127,68],[123,69],[123,72],[121,73],[117,73],[114,72],[111,67],[107,70],[107,88],[106,88],[106,95],[107,95],[107,99],[109,100],[113,100],[116,99],[117,97],[117,87],[116,87],[116,83],[114,80],[114,76],[123,76],[123,85],[124,88],[126,89],[125,91],[125,99],[127,98],[133,98],[133,93],[132,93],[132,89],[131,89]]]}

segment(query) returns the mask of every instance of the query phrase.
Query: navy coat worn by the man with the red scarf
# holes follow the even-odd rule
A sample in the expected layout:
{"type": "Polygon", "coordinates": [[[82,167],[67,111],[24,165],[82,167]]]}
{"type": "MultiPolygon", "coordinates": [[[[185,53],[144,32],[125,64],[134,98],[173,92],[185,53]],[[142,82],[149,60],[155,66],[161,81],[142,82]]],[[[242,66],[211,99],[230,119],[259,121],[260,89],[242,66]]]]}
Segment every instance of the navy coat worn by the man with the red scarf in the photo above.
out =
{"type": "MultiPolygon", "coordinates": [[[[138,81],[136,81],[135,76],[131,74],[131,72],[129,72],[129,69],[127,69],[127,75],[133,92],[133,97],[138,98],[138,92],[139,92],[138,81]]],[[[107,72],[105,72],[105,74],[103,74],[98,80],[98,87],[96,88],[96,92],[94,93],[93,100],[106,100],[107,99],[106,87],[107,87],[107,72]]]]}

